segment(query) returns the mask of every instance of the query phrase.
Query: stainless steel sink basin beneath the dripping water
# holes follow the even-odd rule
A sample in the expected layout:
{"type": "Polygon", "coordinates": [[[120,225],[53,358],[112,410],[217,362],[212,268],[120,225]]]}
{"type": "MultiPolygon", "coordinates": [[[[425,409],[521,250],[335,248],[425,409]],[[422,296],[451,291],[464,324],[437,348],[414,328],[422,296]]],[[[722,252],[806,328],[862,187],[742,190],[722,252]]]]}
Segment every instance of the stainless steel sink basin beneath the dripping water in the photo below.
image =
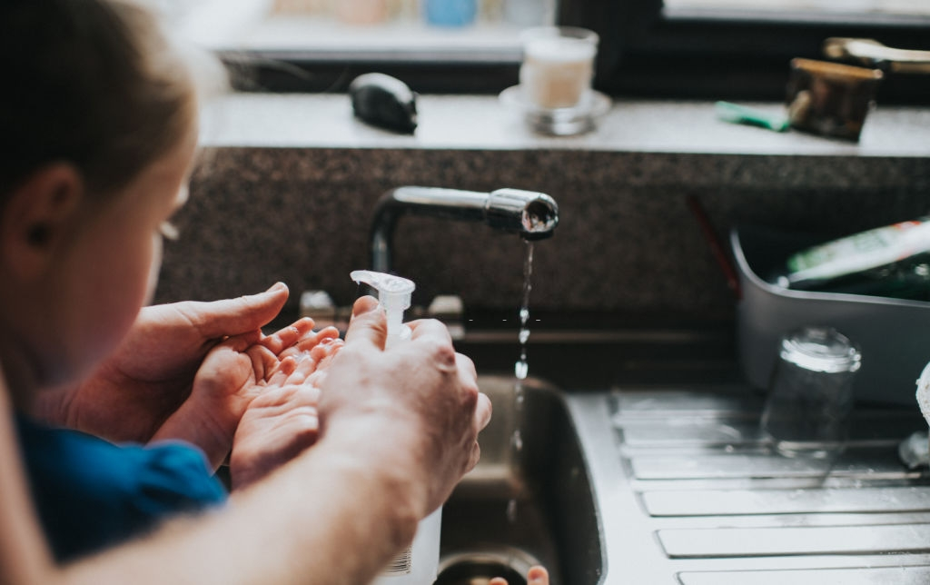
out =
{"type": "Polygon", "coordinates": [[[552,585],[595,585],[604,575],[600,518],[588,466],[562,392],[538,379],[482,377],[494,405],[481,461],[443,510],[437,585],[525,583],[533,564],[552,585]]]}

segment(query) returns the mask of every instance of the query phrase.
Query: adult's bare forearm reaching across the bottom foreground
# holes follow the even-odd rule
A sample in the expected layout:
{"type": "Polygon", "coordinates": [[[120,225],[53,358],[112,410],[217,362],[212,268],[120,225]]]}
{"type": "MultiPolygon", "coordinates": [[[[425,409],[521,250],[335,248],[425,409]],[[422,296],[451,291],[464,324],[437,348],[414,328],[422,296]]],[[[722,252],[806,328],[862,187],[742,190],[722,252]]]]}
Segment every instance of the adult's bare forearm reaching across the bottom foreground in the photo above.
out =
{"type": "Polygon", "coordinates": [[[423,511],[403,474],[338,443],[321,441],[225,509],[68,567],[62,583],[370,581],[413,538],[423,511]]]}

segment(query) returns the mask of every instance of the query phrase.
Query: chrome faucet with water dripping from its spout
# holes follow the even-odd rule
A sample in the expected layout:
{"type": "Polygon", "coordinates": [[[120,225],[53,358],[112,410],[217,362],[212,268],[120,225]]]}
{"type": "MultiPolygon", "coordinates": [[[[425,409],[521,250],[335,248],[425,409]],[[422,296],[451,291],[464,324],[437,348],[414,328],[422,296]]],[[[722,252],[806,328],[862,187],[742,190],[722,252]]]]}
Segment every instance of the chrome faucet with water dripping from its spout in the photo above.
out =
{"type": "Polygon", "coordinates": [[[519,189],[492,193],[398,187],[384,193],[371,223],[371,268],[391,271],[392,237],[397,220],[405,214],[441,219],[484,221],[492,228],[517,233],[525,240],[552,236],[559,223],[559,206],[549,195],[519,189]]]}

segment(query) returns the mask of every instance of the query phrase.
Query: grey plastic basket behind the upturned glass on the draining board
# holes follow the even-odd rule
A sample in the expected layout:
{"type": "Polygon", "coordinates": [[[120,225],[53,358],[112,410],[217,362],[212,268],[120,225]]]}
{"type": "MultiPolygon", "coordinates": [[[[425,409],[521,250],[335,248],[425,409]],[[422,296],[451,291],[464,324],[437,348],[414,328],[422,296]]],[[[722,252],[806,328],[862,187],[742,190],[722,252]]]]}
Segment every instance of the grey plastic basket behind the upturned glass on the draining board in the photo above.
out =
{"type": "Polygon", "coordinates": [[[823,237],[741,226],[730,233],[742,299],[737,346],[751,385],[766,388],[778,341],[801,326],[831,326],[862,349],[859,401],[917,406],[915,382],[930,361],[930,302],[789,290],[764,276],[823,237]]]}

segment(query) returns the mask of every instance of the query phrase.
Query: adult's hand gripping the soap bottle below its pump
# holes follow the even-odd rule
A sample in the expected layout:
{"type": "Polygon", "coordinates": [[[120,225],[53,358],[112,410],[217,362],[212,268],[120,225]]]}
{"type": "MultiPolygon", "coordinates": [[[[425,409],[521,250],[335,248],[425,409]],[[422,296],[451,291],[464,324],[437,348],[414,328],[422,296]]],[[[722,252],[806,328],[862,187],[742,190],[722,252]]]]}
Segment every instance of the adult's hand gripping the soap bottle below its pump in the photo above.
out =
{"type": "Polygon", "coordinates": [[[438,321],[410,324],[409,341],[385,350],[387,322],[375,299],[358,299],[345,346],[320,393],[321,442],[341,442],[424,517],[478,461],[477,435],[491,417],[472,361],[438,321]]]}

